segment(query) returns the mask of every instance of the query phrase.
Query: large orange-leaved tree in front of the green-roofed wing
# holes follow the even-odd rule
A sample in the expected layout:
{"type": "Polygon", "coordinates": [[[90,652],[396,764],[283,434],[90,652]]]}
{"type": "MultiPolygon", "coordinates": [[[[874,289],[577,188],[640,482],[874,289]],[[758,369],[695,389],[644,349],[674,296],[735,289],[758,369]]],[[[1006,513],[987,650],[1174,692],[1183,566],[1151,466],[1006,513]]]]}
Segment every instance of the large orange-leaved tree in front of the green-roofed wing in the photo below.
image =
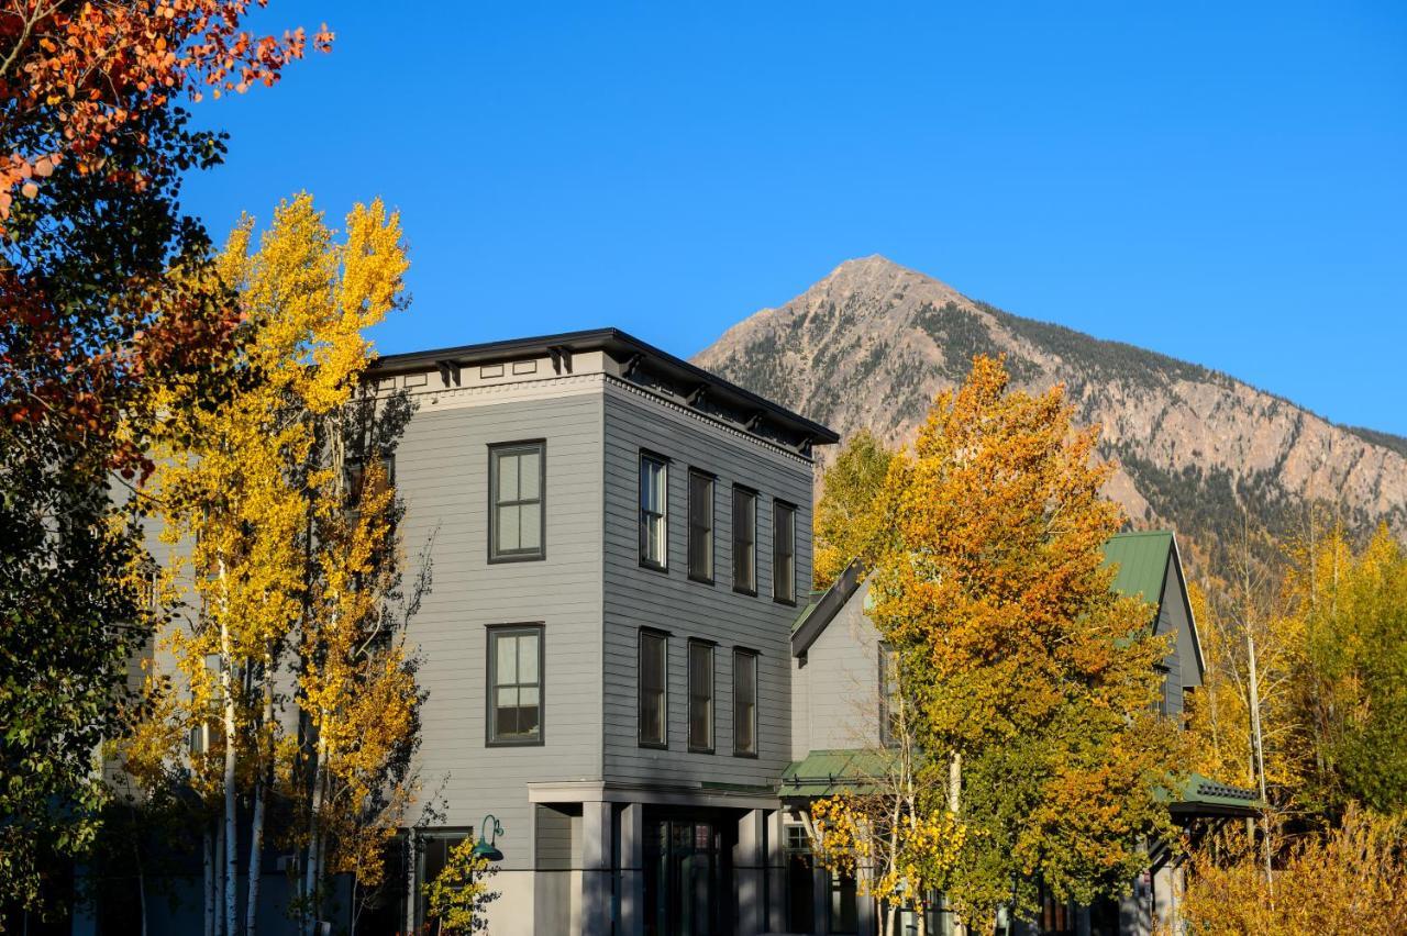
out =
{"type": "Polygon", "coordinates": [[[867,521],[841,526],[865,541],[817,534],[870,571],[870,617],[931,774],[920,786],[957,804],[944,890],[972,925],[1013,899],[1029,914],[1037,881],[1081,902],[1120,892],[1144,842],[1172,833],[1159,788],[1182,742],[1157,711],[1169,646],[1151,606],[1112,590],[1103,547],[1123,514],[1100,493],[1113,468],[1096,441],[1061,386],[1012,391],[1000,361],[976,357],[882,483],[865,465],[884,460],[853,460],[836,496],[862,490],[867,521]]]}

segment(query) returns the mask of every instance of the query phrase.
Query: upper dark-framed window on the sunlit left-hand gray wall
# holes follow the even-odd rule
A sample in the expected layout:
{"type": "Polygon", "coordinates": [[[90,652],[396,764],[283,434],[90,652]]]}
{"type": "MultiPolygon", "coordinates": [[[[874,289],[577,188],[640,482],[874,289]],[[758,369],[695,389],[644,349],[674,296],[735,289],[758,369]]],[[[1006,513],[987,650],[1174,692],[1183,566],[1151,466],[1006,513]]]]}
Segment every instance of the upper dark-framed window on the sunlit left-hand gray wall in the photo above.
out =
{"type": "Polygon", "coordinates": [[[488,561],[546,557],[543,488],[547,443],[512,443],[488,450],[488,561]]]}

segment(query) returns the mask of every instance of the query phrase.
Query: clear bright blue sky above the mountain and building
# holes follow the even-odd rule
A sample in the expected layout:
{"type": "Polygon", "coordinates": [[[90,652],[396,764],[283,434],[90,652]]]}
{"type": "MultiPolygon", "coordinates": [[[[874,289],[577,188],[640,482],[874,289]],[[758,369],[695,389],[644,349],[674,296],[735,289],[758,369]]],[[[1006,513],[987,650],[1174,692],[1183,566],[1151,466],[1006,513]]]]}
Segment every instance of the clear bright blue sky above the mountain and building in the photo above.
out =
{"type": "Polygon", "coordinates": [[[412,249],[386,353],[616,325],[681,356],[882,253],[1407,434],[1407,4],[360,4],[197,105],[219,236],[307,188],[412,249]],[[391,15],[391,10],[414,17],[391,15]]]}

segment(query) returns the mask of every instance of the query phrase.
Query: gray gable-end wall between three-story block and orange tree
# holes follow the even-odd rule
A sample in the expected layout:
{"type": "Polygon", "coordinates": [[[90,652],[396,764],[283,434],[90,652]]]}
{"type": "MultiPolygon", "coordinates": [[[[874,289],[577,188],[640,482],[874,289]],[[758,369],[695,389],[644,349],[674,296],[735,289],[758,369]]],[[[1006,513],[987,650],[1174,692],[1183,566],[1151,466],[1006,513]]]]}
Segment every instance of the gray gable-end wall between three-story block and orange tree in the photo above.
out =
{"type": "Polygon", "coordinates": [[[794,662],[795,734],[792,758],[808,750],[879,746],[879,632],[864,613],[862,583],[806,651],[794,662]]]}

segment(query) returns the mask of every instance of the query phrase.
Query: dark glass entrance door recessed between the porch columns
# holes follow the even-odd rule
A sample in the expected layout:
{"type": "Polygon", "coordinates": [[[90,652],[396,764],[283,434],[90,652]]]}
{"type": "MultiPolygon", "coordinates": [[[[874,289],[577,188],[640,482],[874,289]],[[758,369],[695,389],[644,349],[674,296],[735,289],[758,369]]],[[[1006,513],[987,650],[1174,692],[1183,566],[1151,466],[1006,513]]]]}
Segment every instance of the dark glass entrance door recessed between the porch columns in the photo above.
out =
{"type": "Polygon", "coordinates": [[[654,819],[644,829],[644,932],[715,936],[720,914],[722,840],[712,822],[654,819]]]}

